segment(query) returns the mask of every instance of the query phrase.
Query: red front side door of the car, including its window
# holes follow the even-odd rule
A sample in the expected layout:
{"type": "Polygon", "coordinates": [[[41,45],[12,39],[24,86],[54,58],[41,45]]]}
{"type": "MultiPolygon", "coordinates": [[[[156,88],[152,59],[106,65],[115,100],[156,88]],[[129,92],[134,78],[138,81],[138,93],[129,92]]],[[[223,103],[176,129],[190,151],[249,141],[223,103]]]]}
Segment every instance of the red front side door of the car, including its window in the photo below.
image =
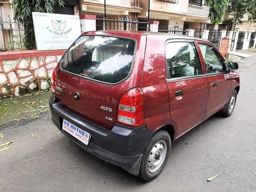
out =
{"type": "Polygon", "coordinates": [[[198,41],[200,54],[204,59],[205,74],[209,83],[209,96],[204,119],[223,108],[228,100],[231,78],[219,51],[205,41],[198,41]]]}

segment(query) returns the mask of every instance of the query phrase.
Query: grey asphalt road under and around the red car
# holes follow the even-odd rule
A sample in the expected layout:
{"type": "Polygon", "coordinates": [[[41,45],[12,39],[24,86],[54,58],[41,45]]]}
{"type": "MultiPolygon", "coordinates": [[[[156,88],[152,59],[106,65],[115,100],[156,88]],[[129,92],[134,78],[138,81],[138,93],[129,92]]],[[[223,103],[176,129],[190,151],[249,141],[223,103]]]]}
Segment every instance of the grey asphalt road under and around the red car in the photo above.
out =
{"type": "Polygon", "coordinates": [[[175,141],[155,180],[142,182],[84,152],[57,134],[46,113],[26,125],[0,125],[0,144],[15,140],[0,152],[0,191],[256,191],[256,56],[238,71],[232,116],[214,115],[175,141]]]}

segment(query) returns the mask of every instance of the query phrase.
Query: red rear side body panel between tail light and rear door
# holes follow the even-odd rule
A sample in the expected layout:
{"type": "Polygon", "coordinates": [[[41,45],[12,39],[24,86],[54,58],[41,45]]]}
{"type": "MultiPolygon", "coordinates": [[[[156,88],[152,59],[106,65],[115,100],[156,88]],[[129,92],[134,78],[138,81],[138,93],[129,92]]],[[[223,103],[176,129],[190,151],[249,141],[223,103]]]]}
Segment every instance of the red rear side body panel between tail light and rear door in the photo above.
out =
{"type": "Polygon", "coordinates": [[[164,57],[165,37],[148,35],[142,72],[141,89],[144,93],[145,122],[148,130],[175,123],[169,116],[169,96],[166,86],[164,57]]]}

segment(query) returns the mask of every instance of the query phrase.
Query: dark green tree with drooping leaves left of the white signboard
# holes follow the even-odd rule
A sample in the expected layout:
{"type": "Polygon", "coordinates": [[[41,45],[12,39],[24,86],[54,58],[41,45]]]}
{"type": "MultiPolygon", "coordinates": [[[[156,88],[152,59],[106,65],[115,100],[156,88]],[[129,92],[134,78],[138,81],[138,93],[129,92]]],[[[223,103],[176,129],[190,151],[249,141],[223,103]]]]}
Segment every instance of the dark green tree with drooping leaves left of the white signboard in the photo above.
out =
{"type": "Polygon", "coordinates": [[[14,11],[14,20],[24,24],[23,44],[26,48],[34,47],[34,28],[32,12],[55,13],[55,6],[63,6],[63,0],[13,0],[12,8],[14,11]]]}

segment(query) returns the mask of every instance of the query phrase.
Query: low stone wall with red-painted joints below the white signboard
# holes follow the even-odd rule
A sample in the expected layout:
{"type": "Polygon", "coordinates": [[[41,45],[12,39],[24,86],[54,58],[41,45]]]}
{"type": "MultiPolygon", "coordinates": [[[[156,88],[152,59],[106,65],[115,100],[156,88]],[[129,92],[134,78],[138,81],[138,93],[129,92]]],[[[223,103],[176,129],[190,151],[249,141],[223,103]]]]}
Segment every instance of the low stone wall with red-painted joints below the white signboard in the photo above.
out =
{"type": "Polygon", "coordinates": [[[0,99],[50,89],[63,51],[35,53],[0,55],[0,99]]]}

